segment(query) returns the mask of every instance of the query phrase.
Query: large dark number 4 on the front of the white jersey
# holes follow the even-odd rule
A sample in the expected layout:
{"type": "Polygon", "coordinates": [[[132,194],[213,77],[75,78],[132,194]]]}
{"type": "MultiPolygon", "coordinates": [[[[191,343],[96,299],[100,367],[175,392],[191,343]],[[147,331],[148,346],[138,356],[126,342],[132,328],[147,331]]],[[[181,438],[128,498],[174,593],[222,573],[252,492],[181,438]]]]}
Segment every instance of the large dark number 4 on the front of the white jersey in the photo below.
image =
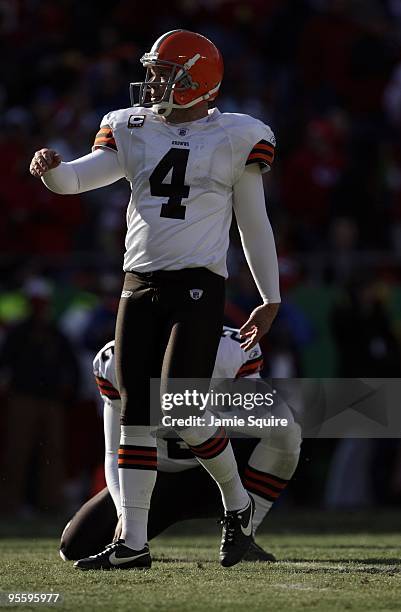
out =
{"type": "Polygon", "coordinates": [[[181,201],[189,196],[190,191],[189,185],[185,185],[188,156],[188,149],[170,149],[149,177],[151,195],[168,198],[162,204],[161,217],[185,219],[186,208],[181,201]],[[171,169],[171,183],[163,183],[171,169]]]}

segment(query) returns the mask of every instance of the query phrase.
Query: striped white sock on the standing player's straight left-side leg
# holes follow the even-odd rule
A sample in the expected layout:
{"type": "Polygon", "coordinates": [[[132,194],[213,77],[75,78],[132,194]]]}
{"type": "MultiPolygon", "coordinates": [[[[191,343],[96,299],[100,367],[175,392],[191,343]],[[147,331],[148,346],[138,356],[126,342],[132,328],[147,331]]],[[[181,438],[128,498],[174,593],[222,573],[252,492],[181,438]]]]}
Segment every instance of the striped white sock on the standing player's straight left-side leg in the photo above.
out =
{"type": "Polygon", "coordinates": [[[121,538],[126,546],[141,550],[148,540],[150,499],[157,474],[156,439],[150,428],[121,426],[119,468],[121,538]]]}

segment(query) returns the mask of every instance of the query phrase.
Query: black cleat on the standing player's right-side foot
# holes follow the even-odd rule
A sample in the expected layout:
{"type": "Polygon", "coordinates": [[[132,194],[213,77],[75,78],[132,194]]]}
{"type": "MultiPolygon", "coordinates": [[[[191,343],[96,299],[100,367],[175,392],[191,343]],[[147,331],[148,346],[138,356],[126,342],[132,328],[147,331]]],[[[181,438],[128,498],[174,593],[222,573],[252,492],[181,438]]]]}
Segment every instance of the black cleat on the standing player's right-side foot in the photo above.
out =
{"type": "Polygon", "coordinates": [[[224,513],[221,521],[223,534],[220,546],[220,564],[231,567],[243,559],[252,542],[252,519],[255,502],[249,498],[244,510],[233,510],[224,513]]]}

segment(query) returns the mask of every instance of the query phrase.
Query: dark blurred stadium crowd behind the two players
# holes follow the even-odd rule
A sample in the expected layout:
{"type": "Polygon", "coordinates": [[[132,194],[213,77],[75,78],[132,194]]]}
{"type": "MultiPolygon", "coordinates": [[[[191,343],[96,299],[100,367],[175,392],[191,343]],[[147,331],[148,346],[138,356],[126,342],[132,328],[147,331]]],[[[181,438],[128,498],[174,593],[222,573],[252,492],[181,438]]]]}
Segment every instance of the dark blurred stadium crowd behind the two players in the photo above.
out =
{"type": "MultiPolygon", "coordinates": [[[[220,110],[258,117],[277,137],[266,192],[283,305],[263,343],[265,373],[400,376],[399,1],[0,1],[6,516],[68,514],[100,486],[102,423],[91,361],[113,335],[128,199],[122,182],[54,195],[29,175],[30,159],[42,146],[64,160],[86,154],[102,116],[129,104],[142,53],[177,27],[221,49],[220,110]],[[39,331],[13,347],[17,354],[24,346],[25,361],[10,379],[9,330],[32,316],[39,331]],[[26,459],[18,487],[20,450],[26,459]]],[[[235,230],[229,269],[227,323],[240,326],[258,295],[235,230]]],[[[303,447],[283,509],[401,502],[397,440],[303,447]]]]}

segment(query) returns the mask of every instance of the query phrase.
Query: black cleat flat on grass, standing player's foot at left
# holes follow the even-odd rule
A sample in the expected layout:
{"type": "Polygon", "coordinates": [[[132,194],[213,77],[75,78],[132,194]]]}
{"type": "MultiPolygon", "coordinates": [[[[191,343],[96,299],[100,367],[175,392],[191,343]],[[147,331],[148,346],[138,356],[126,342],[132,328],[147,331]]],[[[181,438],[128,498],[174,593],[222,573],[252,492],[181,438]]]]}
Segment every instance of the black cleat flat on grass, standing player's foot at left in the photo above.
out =
{"type": "Polygon", "coordinates": [[[117,540],[112,544],[108,544],[97,555],[80,559],[74,563],[74,567],[81,570],[148,569],[151,565],[152,558],[147,544],[142,550],[133,550],[125,546],[124,540],[117,540]]]}

